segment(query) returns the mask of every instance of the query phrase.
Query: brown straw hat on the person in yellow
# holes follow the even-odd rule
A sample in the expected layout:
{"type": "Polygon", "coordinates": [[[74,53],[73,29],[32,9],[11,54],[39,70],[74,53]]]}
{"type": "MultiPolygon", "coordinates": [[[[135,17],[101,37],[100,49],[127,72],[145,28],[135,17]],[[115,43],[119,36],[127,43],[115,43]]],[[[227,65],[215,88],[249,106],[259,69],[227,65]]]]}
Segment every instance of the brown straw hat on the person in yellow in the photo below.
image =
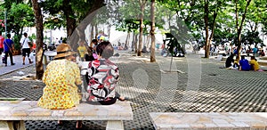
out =
{"type": "Polygon", "coordinates": [[[73,52],[68,44],[61,44],[57,47],[57,55],[54,56],[54,59],[66,57],[73,54],[76,54],[76,52],[73,52]]]}

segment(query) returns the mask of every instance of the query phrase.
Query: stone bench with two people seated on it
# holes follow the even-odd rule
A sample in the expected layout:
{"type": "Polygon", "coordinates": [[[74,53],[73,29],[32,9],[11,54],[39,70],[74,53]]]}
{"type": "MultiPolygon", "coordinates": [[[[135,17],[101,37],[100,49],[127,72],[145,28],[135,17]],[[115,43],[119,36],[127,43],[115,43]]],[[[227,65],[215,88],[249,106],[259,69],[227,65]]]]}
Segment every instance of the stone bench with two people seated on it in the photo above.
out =
{"type": "Polygon", "coordinates": [[[112,105],[81,103],[67,110],[46,110],[36,101],[0,101],[0,129],[25,130],[24,120],[107,120],[106,129],[124,129],[123,120],[133,120],[130,102],[112,105]]]}

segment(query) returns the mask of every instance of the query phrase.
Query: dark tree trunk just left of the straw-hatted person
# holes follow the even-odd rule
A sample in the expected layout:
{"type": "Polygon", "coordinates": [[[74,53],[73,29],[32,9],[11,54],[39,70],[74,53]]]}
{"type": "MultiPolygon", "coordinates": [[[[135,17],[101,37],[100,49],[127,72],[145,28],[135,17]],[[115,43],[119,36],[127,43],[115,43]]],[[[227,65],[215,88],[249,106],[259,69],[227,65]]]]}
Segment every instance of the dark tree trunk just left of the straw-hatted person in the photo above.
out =
{"type": "Polygon", "coordinates": [[[37,0],[32,0],[32,6],[36,20],[36,79],[42,79],[44,74],[43,66],[43,41],[44,41],[44,25],[43,15],[37,0]]]}

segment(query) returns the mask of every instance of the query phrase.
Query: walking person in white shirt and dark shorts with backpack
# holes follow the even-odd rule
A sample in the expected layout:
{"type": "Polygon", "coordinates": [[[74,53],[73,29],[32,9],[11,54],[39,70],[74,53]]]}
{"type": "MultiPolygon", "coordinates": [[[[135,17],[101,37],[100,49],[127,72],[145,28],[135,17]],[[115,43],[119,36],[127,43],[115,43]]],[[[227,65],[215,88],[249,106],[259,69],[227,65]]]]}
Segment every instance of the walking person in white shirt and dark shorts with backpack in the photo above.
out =
{"type": "Polygon", "coordinates": [[[28,34],[24,33],[23,34],[24,38],[20,39],[20,45],[22,48],[22,64],[25,65],[25,57],[26,57],[26,53],[28,56],[28,62],[31,64],[33,63],[33,61],[30,60],[29,58],[29,53],[30,53],[30,40],[28,39],[28,34]]]}

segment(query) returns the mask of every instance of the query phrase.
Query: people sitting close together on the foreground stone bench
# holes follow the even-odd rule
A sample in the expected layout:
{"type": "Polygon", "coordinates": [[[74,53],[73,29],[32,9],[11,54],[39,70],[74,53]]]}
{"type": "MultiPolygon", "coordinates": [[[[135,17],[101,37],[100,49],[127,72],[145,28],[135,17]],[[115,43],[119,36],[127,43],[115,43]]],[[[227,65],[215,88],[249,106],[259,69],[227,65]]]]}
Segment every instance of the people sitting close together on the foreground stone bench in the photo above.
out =
{"type": "MultiPolygon", "coordinates": [[[[79,85],[83,82],[88,93],[86,103],[109,105],[117,100],[127,100],[115,91],[119,70],[115,63],[109,61],[114,53],[113,46],[101,39],[94,39],[90,46],[86,45],[80,41],[77,48],[81,60],[87,64],[85,78],[77,64],[77,53],[70,45],[61,44],[56,48],[57,55],[44,71],[44,93],[37,103],[40,107],[59,110],[77,106],[83,102],[79,93],[79,85]]],[[[62,124],[62,121],[58,123],[62,124]]],[[[81,128],[82,122],[77,121],[76,127],[81,128]]]]}

